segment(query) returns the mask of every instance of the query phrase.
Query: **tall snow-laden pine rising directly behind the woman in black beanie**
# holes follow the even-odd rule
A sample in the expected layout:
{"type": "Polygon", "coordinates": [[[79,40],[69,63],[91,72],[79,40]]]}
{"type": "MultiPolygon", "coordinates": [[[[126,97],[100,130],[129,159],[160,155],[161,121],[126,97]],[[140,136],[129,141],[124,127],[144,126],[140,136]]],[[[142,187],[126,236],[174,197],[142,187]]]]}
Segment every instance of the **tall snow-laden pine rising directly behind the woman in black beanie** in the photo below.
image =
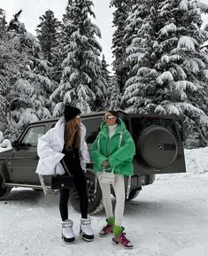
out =
{"type": "Polygon", "coordinates": [[[102,50],[96,41],[99,28],[89,0],[69,0],[63,16],[63,45],[65,59],[58,89],[51,95],[56,105],[53,115],[59,116],[65,103],[77,106],[81,112],[96,111],[104,105],[105,84],[101,78],[102,50]]]}

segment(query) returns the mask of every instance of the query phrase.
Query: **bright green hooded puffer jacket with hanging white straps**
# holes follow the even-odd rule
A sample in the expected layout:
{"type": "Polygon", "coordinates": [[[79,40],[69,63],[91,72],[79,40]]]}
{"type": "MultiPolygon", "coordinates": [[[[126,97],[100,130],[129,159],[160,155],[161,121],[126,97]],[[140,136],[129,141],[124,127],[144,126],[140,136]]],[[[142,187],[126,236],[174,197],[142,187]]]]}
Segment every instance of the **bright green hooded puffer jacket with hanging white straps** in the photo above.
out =
{"type": "MultiPolygon", "coordinates": [[[[101,131],[96,136],[92,145],[91,155],[94,163],[94,171],[103,171],[102,166],[106,160],[110,167],[114,167],[114,173],[119,175],[133,175],[133,157],[135,155],[135,143],[127,131],[124,122],[118,119],[118,126],[114,135],[109,139],[109,128],[103,122],[101,131]]],[[[106,171],[108,167],[106,167],[106,171]]]]}

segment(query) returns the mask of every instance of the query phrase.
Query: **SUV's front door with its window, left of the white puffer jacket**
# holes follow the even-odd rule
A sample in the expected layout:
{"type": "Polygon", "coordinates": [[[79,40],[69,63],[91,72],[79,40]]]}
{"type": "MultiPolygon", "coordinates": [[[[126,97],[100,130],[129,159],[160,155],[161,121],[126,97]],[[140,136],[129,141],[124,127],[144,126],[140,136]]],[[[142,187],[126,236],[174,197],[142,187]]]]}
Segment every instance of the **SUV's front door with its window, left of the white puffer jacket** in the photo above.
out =
{"type": "Polygon", "coordinates": [[[39,183],[35,174],[37,167],[37,142],[45,132],[44,124],[36,124],[26,129],[19,139],[19,149],[12,151],[12,180],[13,182],[39,183]]]}

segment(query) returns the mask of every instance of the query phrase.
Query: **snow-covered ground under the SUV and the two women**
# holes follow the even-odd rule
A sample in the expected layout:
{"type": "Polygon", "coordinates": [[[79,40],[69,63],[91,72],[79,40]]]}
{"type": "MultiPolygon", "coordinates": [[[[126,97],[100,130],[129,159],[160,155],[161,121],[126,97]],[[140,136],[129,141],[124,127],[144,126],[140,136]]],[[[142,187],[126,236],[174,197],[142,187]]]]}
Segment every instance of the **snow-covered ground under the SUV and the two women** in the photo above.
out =
{"type": "MultiPolygon", "coordinates": [[[[1,256],[205,256],[208,253],[208,148],[185,151],[187,173],[160,175],[126,204],[123,225],[133,250],[101,238],[104,211],[91,215],[95,241],[79,237],[80,215],[69,206],[75,244],[60,239],[58,194],[12,190],[0,201],[1,256]]],[[[113,199],[112,199],[113,200],[113,199]]],[[[114,202],[114,201],[113,201],[114,202]]]]}

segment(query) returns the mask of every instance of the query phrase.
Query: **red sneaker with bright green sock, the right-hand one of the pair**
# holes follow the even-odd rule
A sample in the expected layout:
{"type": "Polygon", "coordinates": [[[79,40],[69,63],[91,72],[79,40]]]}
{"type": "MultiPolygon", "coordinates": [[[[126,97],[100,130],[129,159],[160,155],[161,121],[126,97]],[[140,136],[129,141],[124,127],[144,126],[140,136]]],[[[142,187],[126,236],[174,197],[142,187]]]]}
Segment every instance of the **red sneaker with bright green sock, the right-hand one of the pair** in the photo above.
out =
{"type": "Polygon", "coordinates": [[[124,227],[113,226],[112,243],[118,244],[125,249],[132,249],[133,244],[127,239],[126,233],[123,232],[124,227]]]}

